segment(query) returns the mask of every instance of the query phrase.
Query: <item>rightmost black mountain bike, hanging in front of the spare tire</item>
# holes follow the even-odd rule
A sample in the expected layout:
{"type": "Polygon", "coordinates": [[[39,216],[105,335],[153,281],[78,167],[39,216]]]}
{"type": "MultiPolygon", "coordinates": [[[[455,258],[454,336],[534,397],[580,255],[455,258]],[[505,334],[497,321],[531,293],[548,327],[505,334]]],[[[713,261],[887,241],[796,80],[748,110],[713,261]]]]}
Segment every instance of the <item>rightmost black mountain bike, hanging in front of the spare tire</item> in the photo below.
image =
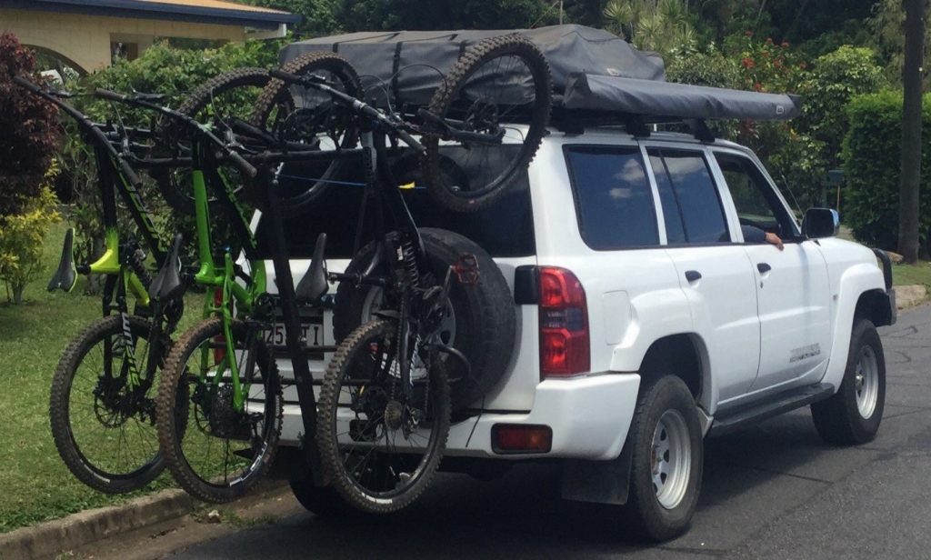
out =
{"type": "MultiPolygon", "coordinates": [[[[331,81],[314,72],[315,65],[327,60],[332,65],[345,60],[332,54],[312,53],[293,60],[288,67],[273,70],[275,81],[269,84],[260,100],[275,100],[284,91],[301,87],[322,94],[331,102],[331,116],[322,122],[315,118],[314,106],[277,108],[277,116],[269,121],[268,107],[258,104],[259,117],[253,126],[261,126],[271,136],[283,141],[306,140],[308,136],[331,134],[328,124],[347,123],[344,129],[359,131],[359,146],[346,148],[344,142],[331,142],[332,161],[340,161],[353,154],[360,156],[364,169],[366,200],[371,206],[376,249],[371,260],[357,267],[355,273],[318,273],[316,280],[339,281],[341,286],[377,286],[383,290],[382,304],[376,318],[352,331],[337,347],[320,389],[316,413],[316,443],[324,473],[333,487],[358,509],[370,513],[397,511],[415,500],[428,486],[439,467],[443,447],[450,427],[451,396],[447,365],[457,362],[468,373],[468,360],[463,353],[449,346],[439,337],[440,326],[449,313],[449,294],[453,283],[469,285],[478,282],[479,259],[475,254],[461,254],[458,260],[448,263],[439,271],[428,260],[424,240],[412,220],[403,196],[398,189],[391,167],[389,152],[403,144],[420,153],[425,176],[435,176],[428,188],[450,190],[447,175],[434,168],[439,162],[436,152],[439,140],[447,144],[466,145],[482,151],[500,146],[508,130],[503,123],[488,118],[479,122],[473,114],[464,120],[447,115],[452,92],[462,91],[465,83],[489,60],[502,56],[515,56],[531,68],[528,75],[540,77],[541,111],[548,113],[548,67],[535,48],[528,50],[529,41],[518,36],[505,40],[483,42],[466,51],[460,64],[444,82],[438,102],[432,109],[418,113],[418,123],[405,120],[398,114],[383,113],[346,92],[331,87],[331,81]],[[525,53],[530,52],[526,58],[525,53]],[[491,53],[491,54],[489,54],[491,53]],[[465,68],[461,67],[464,66],[465,68]],[[289,72],[300,68],[300,73],[289,72]],[[460,83],[462,82],[462,83],[460,83]],[[445,108],[444,108],[445,103],[445,108]],[[289,112],[290,110],[290,112],[289,112]],[[285,123],[288,126],[281,126],[285,123]],[[295,123],[300,126],[295,126],[295,123]],[[320,123],[320,124],[317,124],[320,123]],[[293,131],[297,131],[296,133],[293,131]],[[414,135],[424,139],[423,143],[414,135]],[[389,142],[391,146],[389,147],[389,142]],[[432,175],[431,175],[432,174],[432,175]],[[442,179],[442,180],[440,180],[442,179]],[[387,221],[393,221],[394,231],[388,231],[387,221]]],[[[531,46],[532,47],[532,46],[531,46]]],[[[345,73],[349,73],[347,69],[345,73]]],[[[490,116],[492,103],[475,100],[472,106],[490,116]]],[[[546,115],[536,116],[537,107],[531,110],[532,123],[519,141],[522,146],[517,157],[505,171],[486,185],[479,185],[471,193],[454,192],[439,195],[438,200],[456,209],[475,209],[500,195],[521,166],[526,166],[535,153],[544,132],[546,115]],[[534,145],[535,144],[535,145],[534,145]]],[[[396,148],[397,149],[397,148],[396,148]]],[[[280,171],[266,170],[258,184],[266,193],[266,205],[273,212],[277,205],[276,187],[280,171]]],[[[314,178],[313,189],[329,188],[327,178],[314,178]]],[[[273,217],[273,223],[275,220],[273,217]]],[[[360,222],[361,223],[361,222],[360,222]]],[[[283,243],[280,224],[272,227],[279,244],[283,243]]],[[[326,238],[317,240],[312,262],[323,259],[326,238]]],[[[480,249],[477,248],[477,251],[480,249]]],[[[277,251],[280,252],[280,251],[277,251]]],[[[287,268],[287,258],[274,255],[276,270],[287,268]],[[278,260],[282,260],[280,263],[278,260]]],[[[491,262],[490,258],[486,262],[491,262]]],[[[493,266],[493,264],[492,264],[493,266]]],[[[306,280],[306,277],[304,278],[306,280]]],[[[287,282],[284,283],[287,285],[287,282]]],[[[280,287],[280,286],[279,286],[280,287]]],[[[287,306],[290,296],[282,293],[282,306],[289,333],[287,306]]],[[[295,340],[293,347],[300,347],[295,340]]],[[[289,340],[289,348],[292,348],[289,340]]],[[[294,350],[292,350],[294,352],[294,350]]],[[[293,356],[293,354],[292,354],[293,356]]],[[[297,377],[297,373],[295,374],[297,377]]],[[[307,407],[302,400],[304,417],[307,407]]],[[[313,414],[313,412],[312,412],[313,414]]],[[[304,418],[306,425],[307,419],[304,418]]],[[[326,482],[326,481],[323,481],[326,482]]]]}

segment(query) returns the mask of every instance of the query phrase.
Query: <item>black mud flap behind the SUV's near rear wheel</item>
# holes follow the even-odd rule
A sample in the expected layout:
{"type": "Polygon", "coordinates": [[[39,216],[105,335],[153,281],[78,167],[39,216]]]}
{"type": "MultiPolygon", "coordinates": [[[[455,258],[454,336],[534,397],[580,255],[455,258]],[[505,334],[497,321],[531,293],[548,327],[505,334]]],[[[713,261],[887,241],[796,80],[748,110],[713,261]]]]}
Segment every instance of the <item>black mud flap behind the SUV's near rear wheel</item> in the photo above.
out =
{"type": "Polygon", "coordinates": [[[630,489],[630,446],[625,442],[614,460],[562,461],[562,499],[610,503],[627,503],[630,489]]]}

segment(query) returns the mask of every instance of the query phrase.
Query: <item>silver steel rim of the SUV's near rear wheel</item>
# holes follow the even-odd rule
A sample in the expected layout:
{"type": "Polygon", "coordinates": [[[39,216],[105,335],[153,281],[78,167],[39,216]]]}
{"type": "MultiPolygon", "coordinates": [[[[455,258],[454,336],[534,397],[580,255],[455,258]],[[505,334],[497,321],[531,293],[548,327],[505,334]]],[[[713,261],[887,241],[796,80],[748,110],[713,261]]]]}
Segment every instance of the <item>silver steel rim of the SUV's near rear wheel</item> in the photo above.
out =
{"type": "Polygon", "coordinates": [[[659,505],[674,509],[685,498],[692,472],[692,440],[678,410],[667,410],[656,422],[650,471],[659,505]]]}

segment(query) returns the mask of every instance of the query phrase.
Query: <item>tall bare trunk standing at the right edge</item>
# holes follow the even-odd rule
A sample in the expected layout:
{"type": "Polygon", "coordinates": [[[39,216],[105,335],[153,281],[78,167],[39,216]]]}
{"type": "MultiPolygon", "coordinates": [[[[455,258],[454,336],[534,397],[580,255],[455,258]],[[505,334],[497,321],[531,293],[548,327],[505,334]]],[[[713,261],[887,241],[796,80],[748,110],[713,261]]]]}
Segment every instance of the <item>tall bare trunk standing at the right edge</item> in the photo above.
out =
{"type": "Polygon", "coordinates": [[[903,0],[905,64],[902,66],[902,166],[898,197],[898,252],[918,260],[918,193],[922,171],[922,58],[925,0],[903,0]]]}

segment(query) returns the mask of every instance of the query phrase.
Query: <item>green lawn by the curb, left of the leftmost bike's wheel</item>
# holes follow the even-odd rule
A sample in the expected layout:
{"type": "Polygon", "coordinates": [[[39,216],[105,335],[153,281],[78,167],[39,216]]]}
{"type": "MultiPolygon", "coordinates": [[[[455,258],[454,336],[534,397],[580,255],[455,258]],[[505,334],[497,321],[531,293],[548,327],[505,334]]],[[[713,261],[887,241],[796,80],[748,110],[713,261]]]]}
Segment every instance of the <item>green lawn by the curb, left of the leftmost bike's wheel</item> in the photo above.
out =
{"type": "MultiPolygon", "coordinates": [[[[101,300],[83,295],[83,279],[70,294],[46,291],[66,228],[60,223],[49,232],[43,257],[46,270],[26,288],[25,303],[12,305],[5,298],[0,302],[0,532],[173,484],[166,472],[137,494],[101,494],[78,482],[55,449],[48,424],[52,374],[68,342],[101,317],[101,300]]],[[[199,311],[196,301],[199,298],[191,304],[199,311]]]]}

